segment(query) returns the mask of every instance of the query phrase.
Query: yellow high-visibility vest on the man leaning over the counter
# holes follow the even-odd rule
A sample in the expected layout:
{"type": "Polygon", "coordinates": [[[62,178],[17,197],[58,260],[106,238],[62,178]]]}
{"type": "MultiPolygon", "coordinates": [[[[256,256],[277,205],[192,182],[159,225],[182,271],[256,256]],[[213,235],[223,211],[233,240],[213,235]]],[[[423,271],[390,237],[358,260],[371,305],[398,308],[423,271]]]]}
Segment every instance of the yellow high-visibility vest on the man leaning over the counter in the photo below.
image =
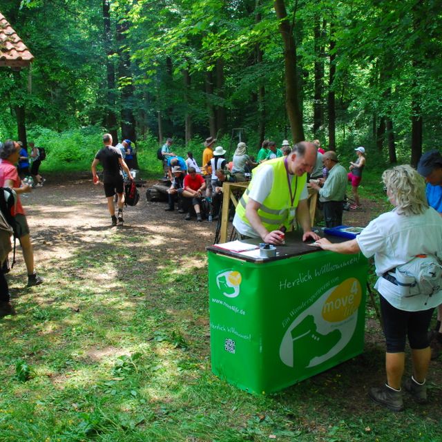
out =
{"type": "MultiPolygon", "coordinates": [[[[273,184],[271,191],[267,198],[262,202],[258,215],[260,216],[262,224],[268,231],[278,230],[282,225],[287,229],[291,226],[294,218],[296,207],[298,206],[299,198],[302,190],[307,182],[307,173],[302,176],[294,175],[291,180],[291,195],[294,195],[293,204],[291,203],[291,196],[289,191],[289,182],[287,180],[287,171],[284,164],[285,157],[274,158],[260,164],[256,169],[253,169],[253,177],[256,176],[256,171],[261,167],[273,167],[273,184]]],[[[249,201],[249,193],[253,187],[253,177],[249,187],[242,195],[238,206],[236,206],[236,213],[242,221],[250,225],[246,217],[246,205],[249,201]]]]}

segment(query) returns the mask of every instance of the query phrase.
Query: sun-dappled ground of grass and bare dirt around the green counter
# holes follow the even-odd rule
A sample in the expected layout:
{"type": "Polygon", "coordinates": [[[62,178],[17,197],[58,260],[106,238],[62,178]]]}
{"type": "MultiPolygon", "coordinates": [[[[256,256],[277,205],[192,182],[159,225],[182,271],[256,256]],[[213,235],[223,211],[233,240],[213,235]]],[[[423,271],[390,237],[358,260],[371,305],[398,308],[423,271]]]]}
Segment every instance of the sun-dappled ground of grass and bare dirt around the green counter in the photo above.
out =
{"type": "MultiPolygon", "coordinates": [[[[365,352],[351,361],[269,396],[215,378],[205,254],[215,223],[165,212],[146,201],[146,188],[113,228],[88,173],[49,175],[24,196],[46,280],[24,287],[18,247],[8,276],[17,315],[0,320],[1,442],[438,440],[440,361],[430,365],[431,405],[407,397],[405,412],[393,414],[367,398],[385,378],[369,301],[365,352]]],[[[365,226],[383,203],[363,206],[345,212],[344,224],[365,226]]]]}

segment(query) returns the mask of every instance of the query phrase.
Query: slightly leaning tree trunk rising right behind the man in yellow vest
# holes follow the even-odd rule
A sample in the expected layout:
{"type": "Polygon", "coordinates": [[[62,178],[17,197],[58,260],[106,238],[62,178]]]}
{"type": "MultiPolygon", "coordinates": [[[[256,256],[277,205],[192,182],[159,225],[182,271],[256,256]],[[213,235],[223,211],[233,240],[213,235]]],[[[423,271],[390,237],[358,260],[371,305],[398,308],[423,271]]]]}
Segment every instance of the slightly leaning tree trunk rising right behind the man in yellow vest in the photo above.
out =
{"type": "Polygon", "coordinates": [[[273,7],[276,17],[280,20],[279,30],[284,42],[284,67],[285,67],[285,105],[291,126],[291,136],[295,143],[304,140],[304,128],[302,128],[302,115],[298,100],[298,76],[296,61],[296,46],[293,29],[287,17],[284,0],[275,0],[273,7]]]}

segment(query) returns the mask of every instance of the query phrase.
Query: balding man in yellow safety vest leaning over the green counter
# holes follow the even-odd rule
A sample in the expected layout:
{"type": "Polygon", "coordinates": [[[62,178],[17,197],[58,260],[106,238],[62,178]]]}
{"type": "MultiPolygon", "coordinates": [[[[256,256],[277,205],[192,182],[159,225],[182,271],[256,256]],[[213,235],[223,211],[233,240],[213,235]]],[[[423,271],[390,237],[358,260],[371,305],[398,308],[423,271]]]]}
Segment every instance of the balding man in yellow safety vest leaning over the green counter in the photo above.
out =
{"type": "Polygon", "coordinates": [[[253,170],[233,219],[238,233],[279,245],[296,217],[304,231],[303,241],[319,239],[311,231],[307,204],[307,172],[316,164],[316,152],[313,143],[299,142],[287,157],[266,161],[253,170]]]}

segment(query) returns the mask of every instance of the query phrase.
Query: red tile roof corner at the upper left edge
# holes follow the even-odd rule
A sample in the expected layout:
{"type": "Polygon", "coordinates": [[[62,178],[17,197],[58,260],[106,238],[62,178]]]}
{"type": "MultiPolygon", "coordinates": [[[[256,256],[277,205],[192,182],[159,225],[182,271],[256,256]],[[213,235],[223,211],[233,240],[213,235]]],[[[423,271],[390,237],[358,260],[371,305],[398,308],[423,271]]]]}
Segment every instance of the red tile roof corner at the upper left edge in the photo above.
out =
{"type": "Polygon", "coordinates": [[[23,68],[34,56],[0,13],[0,66],[23,68]]]}

